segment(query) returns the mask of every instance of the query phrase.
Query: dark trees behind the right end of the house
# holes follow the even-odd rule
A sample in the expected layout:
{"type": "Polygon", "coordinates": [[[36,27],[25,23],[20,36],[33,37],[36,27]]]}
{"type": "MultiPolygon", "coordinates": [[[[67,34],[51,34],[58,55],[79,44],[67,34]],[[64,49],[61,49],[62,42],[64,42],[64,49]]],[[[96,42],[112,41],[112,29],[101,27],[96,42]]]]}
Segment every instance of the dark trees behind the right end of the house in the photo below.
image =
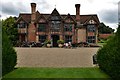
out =
{"type": "Polygon", "coordinates": [[[98,31],[100,34],[110,34],[114,32],[114,29],[110,28],[109,26],[106,26],[104,23],[100,23],[98,31]]]}

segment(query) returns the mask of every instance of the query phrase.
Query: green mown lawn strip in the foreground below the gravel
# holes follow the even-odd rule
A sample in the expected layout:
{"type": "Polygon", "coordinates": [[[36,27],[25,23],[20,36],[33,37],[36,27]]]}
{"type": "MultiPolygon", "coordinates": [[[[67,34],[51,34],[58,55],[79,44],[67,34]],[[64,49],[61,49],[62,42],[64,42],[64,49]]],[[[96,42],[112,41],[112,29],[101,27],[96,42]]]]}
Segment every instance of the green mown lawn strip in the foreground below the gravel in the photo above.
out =
{"type": "Polygon", "coordinates": [[[3,78],[109,78],[99,68],[18,68],[3,78]]]}

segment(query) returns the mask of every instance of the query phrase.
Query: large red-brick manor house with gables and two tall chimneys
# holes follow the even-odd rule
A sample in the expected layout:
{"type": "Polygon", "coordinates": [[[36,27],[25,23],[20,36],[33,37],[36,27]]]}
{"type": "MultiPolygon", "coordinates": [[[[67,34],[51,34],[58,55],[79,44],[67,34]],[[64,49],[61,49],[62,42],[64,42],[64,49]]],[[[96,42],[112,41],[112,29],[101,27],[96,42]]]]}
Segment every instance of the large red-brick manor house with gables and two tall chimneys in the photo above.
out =
{"type": "Polygon", "coordinates": [[[31,13],[20,13],[17,19],[19,41],[41,42],[57,40],[65,42],[97,43],[99,19],[96,14],[80,15],[80,4],[75,4],[76,15],[59,14],[55,8],[51,14],[36,11],[31,3],[31,13]]]}

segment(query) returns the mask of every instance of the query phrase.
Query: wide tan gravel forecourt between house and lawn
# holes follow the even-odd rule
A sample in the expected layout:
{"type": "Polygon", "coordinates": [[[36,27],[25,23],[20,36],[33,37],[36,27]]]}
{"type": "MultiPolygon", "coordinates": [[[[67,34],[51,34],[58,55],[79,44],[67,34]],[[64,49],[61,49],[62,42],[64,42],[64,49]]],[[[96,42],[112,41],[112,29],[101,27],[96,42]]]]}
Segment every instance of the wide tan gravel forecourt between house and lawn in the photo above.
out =
{"type": "Polygon", "coordinates": [[[15,48],[16,67],[93,67],[98,48],[15,48]]]}

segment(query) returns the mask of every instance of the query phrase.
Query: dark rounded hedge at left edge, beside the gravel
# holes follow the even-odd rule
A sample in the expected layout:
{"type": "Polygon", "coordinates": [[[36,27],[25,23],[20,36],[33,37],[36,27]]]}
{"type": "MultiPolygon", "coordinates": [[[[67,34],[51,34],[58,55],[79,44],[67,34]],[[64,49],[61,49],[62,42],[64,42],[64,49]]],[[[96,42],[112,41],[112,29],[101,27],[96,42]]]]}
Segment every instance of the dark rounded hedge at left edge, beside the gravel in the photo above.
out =
{"type": "Polygon", "coordinates": [[[2,29],[2,75],[14,69],[17,62],[17,55],[12,44],[6,35],[5,29],[2,29]]]}

